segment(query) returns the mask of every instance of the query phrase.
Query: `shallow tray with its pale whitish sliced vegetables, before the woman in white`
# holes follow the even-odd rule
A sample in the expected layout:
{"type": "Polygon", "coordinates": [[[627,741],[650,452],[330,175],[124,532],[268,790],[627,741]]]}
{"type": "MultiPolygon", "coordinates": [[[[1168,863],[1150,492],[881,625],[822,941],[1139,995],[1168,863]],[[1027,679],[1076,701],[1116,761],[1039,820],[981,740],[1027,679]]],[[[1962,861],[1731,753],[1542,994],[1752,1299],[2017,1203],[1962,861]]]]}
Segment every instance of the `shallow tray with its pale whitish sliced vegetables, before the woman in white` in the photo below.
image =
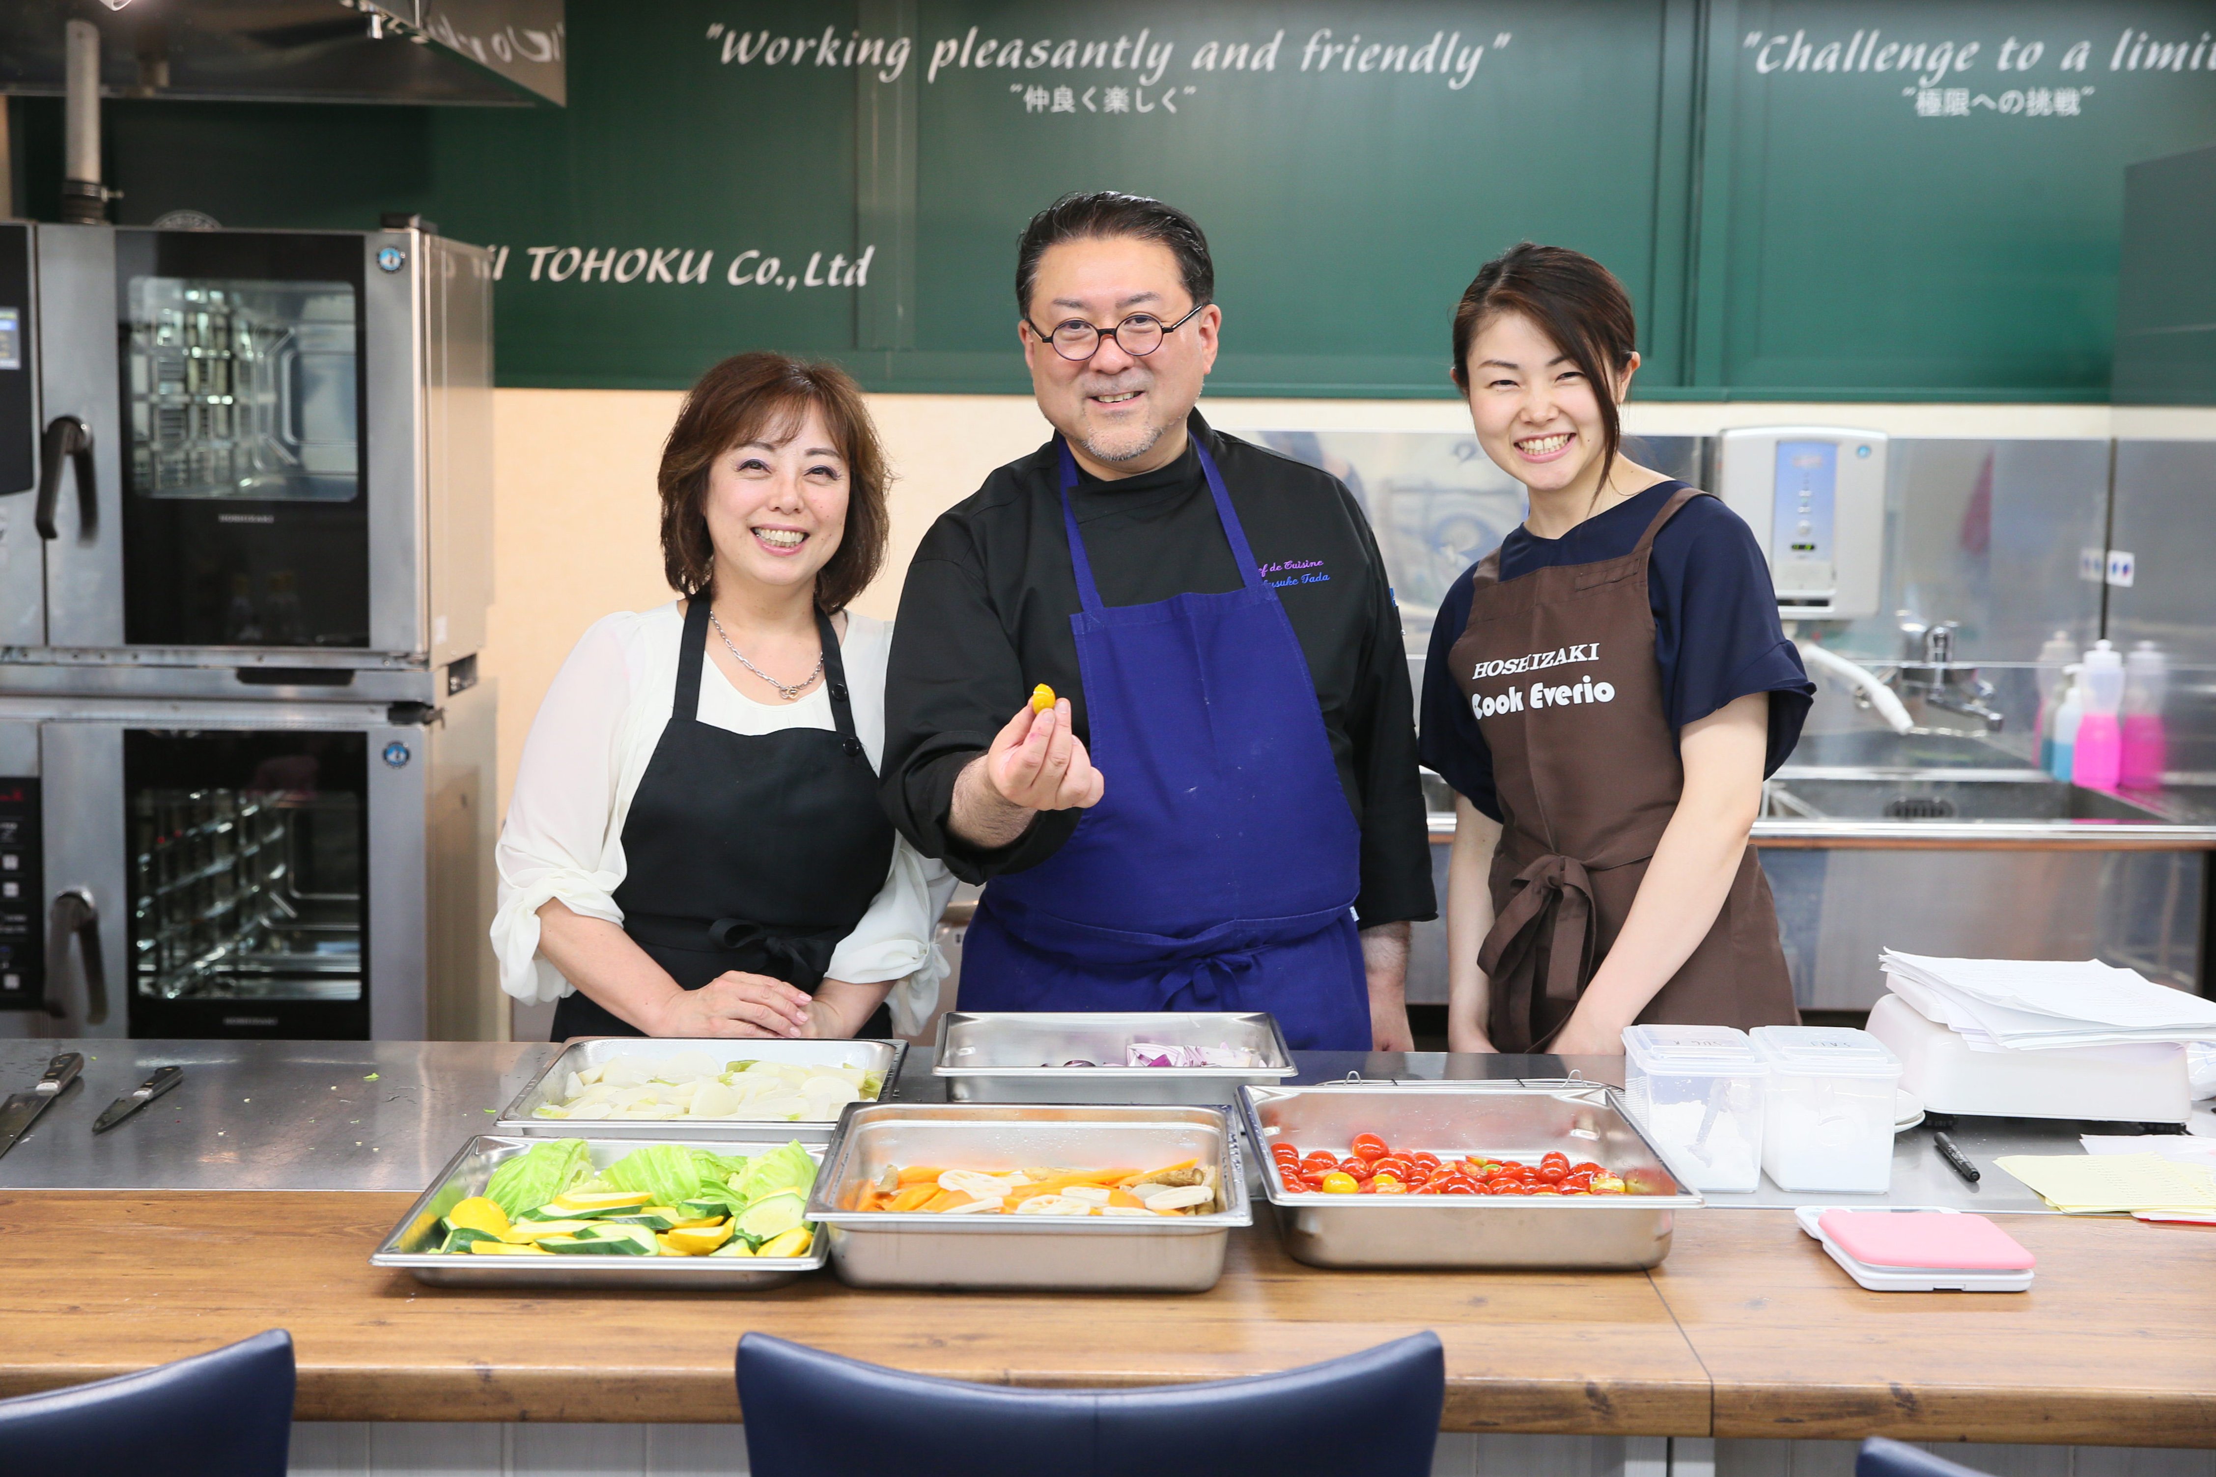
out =
{"type": "Polygon", "coordinates": [[[492,1132],[831,1143],[840,1109],[891,1096],[906,1054],[906,1041],[589,1036],[554,1056],[492,1132]]]}

